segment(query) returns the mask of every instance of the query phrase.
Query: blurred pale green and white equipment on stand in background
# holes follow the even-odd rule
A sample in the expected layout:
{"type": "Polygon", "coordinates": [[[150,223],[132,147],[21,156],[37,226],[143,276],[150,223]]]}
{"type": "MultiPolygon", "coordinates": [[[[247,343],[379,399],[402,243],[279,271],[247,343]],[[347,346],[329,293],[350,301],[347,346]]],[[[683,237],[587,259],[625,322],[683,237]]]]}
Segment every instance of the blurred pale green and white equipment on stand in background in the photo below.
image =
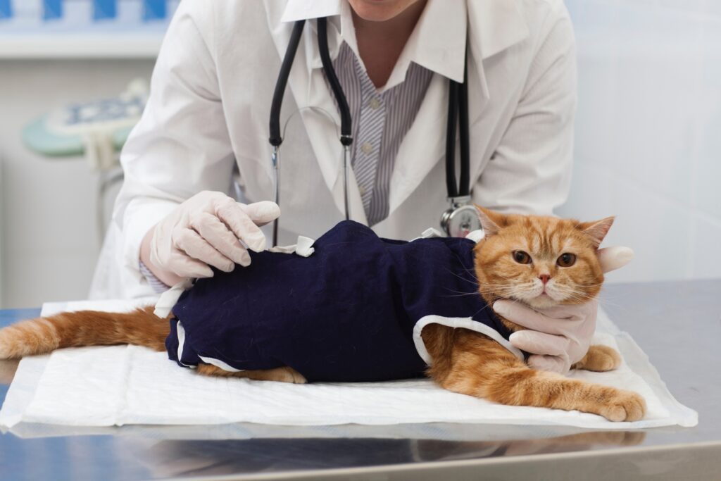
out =
{"type": "Polygon", "coordinates": [[[28,149],[48,157],[84,155],[99,173],[96,195],[97,236],[105,237],[103,199],[107,190],[123,180],[119,152],[140,120],[148,101],[144,79],[131,81],[118,97],[63,106],[27,125],[22,139],[28,149]]]}

